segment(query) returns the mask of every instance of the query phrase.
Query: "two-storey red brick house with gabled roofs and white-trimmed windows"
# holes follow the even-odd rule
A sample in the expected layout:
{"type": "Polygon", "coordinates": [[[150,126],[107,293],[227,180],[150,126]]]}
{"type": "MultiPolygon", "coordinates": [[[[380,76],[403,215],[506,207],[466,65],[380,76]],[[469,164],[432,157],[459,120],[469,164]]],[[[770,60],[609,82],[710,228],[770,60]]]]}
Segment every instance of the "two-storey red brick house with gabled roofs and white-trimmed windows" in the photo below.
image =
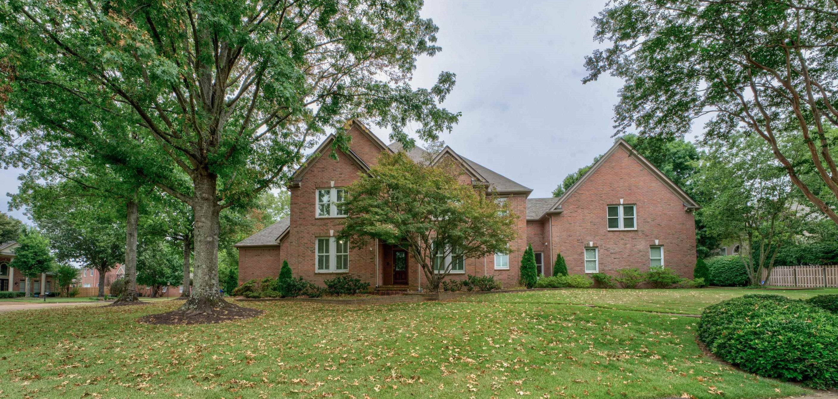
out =
{"type": "MultiPolygon", "coordinates": [[[[235,245],[240,283],[277,277],[282,261],[287,261],[295,277],[318,285],[348,273],[385,290],[424,287],[420,266],[403,249],[380,242],[355,249],[335,238],[344,217],[338,205],[343,188],[375,165],[380,153],[403,151],[401,144],[386,145],[356,120],[350,121],[348,133],[349,153],[329,158],[334,140],[329,135],[292,176],[290,216],[235,245]]],[[[623,140],[561,198],[530,199],[532,189],[452,148],[433,155],[417,147],[407,155],[422,163],[453,158],[463,169],[463,184],[495,191],[519,218],[518,238],[510,242],[509,255],[466,259],[448,278],[488,275],[504,287],[514,287],[528,243],[539,272],[546,275],[552,274],[551,259],[561,252],[575,274],[665,264],[692,277],[696,231],[691,211],[699,206],[623,140]]]]}

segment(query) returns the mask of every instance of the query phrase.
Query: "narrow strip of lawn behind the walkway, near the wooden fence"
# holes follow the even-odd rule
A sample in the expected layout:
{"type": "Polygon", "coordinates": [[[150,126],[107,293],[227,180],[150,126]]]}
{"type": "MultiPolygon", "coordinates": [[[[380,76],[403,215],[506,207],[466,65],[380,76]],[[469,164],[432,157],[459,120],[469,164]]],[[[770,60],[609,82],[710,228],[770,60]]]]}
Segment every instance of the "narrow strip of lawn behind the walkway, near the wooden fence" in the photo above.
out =
{"type": "Polygon", "coordinates": [[[506,298],[498,295],[469,297],[468,301],[510,301],[514,303],[568,303],[595,305],[621,310],[642,310],[670,314],[701,314],[707,306],[748,293],[785,295],[789,298],[810,298],[815,295],[838,293],[838,288],[815,290],[760,290],[746,288],[701,289],[565,289],[535,291],[506,298]]]}

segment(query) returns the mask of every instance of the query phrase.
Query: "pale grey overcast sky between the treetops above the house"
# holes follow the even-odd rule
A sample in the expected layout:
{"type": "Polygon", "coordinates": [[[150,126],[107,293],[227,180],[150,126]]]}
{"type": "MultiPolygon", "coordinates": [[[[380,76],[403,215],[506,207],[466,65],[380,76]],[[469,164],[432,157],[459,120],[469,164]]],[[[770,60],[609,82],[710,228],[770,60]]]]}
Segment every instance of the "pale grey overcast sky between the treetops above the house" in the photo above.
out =
{"type": "MultiPolygon", "coordinates": [[[[442,140],[466,158],[549,197],[566,174],[613,143],[621,80],[582,85],[584,56],[601,47],[591,18],[605,1],[426,0],[442,52],[422,58],[413,80],[430,87],[442,70],[457,74],[444,106],[462,111],[442,140]]],[[[375,129],[387,141],[388,132],[375,129]]],[[[0,193],[16,192],[20,170],[0,170],[0,193]]],[[[8,197],[0,198],[0,210],[8,197]]],[[[22,212],[10,212],[25,219],[22,212]]]]}

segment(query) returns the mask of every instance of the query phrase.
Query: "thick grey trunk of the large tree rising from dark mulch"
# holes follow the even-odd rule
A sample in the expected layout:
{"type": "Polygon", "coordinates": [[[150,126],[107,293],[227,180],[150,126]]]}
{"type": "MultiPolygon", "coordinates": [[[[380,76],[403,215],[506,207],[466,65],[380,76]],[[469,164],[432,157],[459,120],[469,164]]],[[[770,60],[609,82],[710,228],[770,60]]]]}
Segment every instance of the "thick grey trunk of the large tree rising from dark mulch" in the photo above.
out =
{"type": "Polygon", "coordinates": [[[194,277],[192,293],[181,310],[189,313],[212,313],[223,308],[218,285],[218,234],[220,206],[215,199],[217,176],[208,170],[199,170],[194,177],[194,277]]]}

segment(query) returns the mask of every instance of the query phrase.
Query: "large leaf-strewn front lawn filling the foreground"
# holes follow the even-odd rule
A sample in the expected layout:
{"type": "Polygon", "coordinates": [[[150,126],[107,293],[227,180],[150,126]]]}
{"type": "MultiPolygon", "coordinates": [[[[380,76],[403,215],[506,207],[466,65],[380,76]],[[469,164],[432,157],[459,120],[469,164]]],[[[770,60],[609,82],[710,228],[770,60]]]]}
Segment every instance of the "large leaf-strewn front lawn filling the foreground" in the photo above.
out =
{"type": "MultiPolygon", "coordinates": [[[[572,295],[598,293],[577,291],[572,295]]],[[[194,326],[135,323],[176,302],[13,312],[3,315],[0,329],[0,397],[651,399],[806,392],[702,355],[696,319],[561,304],[568,294],[363,307],[242,303],[266,314],[194,326]]]]}

